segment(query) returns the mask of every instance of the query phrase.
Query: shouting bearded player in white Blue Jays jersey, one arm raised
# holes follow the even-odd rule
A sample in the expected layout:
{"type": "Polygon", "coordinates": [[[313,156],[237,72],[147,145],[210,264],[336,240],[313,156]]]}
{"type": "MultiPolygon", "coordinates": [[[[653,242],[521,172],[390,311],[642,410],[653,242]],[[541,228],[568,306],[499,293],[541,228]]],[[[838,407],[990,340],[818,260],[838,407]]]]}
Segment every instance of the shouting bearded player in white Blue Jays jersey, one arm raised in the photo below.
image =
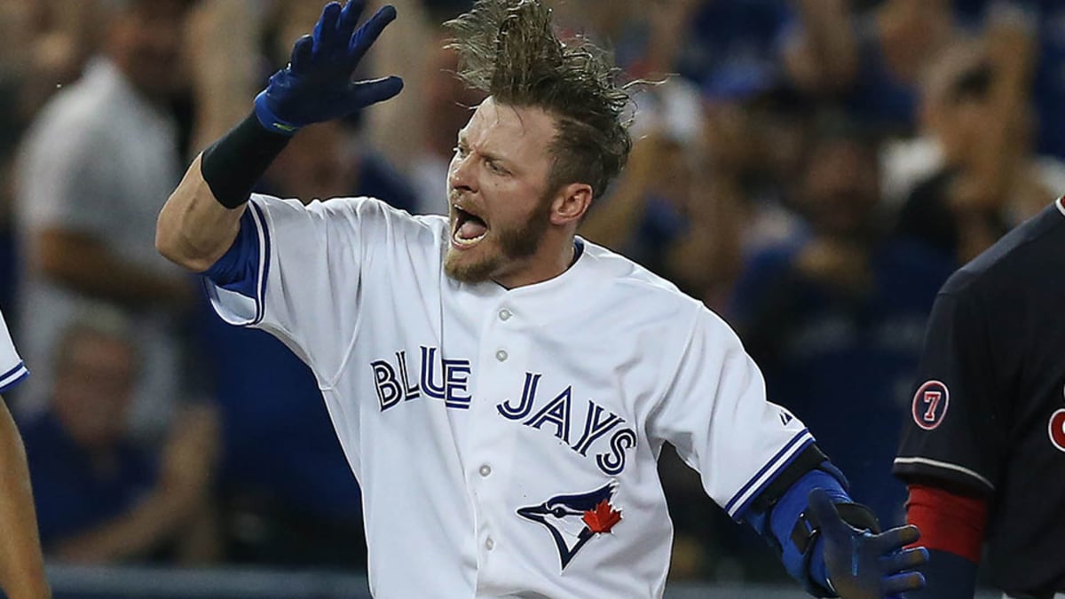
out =
{"type": "MultiPolygon", "coordinates": [[[[397,94],[351,81],[395,18],[326,5],[255,111],[194,161],[157,245],[230,323],[310,366],[363,489],[381,597],[659,597],[667,441],[818,596],[922,584],[913,527],[878,531],[803,424],[768,403],[733,331],[661,278],[575,237],[624,164],[628,96],[535,0],[449,27],[488,94],[458,134],[449,216],[371,198],[250,194],[306,125],[397,94]],[[250,195],[250,200],[249,200],[250,195]]],[[[265,373],[264,373],[265,375],[265,373]]]]}

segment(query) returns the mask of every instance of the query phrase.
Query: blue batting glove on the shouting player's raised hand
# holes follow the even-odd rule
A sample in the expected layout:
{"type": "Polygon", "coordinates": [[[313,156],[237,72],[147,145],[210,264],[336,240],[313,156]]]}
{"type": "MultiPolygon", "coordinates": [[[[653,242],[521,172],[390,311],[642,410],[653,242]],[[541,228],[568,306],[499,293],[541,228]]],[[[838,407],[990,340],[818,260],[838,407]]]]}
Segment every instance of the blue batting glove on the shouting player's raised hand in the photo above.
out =
{"type": "Polygon", "coordinates": [[[291,135],[305,125],[346,116],[399,93],[398,77],[351,81],[363,54],[396,18],[394,7],[383,6],[356,30],[364,5],[365,0],[349,0],[343,9],[338,2],[326,4],[314,34],[296,42],[289,66],[275,72],[256,97],[263,127],[291,135]]]}

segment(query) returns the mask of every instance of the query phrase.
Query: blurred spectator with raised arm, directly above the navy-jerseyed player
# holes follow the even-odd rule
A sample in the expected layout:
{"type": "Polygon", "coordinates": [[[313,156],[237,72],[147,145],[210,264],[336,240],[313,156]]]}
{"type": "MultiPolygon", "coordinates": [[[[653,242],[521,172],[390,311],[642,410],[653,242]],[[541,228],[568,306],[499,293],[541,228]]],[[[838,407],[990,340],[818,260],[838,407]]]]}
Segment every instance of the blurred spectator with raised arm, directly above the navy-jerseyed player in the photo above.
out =
{"type": "Polygon", "coordinates": [[[957,263],[1065,191],[1065,165],[1033,151],[1026,31],[995,25],[985,43],[940,56],[924,86],[924,128],[937,153],[903,205],[898,232],[957,263]]]}

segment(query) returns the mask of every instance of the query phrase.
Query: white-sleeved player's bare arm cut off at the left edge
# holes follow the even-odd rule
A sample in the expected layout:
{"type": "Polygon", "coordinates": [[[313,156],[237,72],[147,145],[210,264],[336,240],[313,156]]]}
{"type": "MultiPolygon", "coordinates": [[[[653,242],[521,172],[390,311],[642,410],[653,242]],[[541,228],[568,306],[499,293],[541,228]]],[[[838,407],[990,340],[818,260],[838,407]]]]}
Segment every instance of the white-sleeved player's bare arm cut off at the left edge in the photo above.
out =
{"type": "MultiPolygon", "coordinates": [[[[29,375],[0,313],[0,393],[29,375]]],[[[0,588],[11,599],[50,597],[22,438],[0,398],[0,588]]]]}

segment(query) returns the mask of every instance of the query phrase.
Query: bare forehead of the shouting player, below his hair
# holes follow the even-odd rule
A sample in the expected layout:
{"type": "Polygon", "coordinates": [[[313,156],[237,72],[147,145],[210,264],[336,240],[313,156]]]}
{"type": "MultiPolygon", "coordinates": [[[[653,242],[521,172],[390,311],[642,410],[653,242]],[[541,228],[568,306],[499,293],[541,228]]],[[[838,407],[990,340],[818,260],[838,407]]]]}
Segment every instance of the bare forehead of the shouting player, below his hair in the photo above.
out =
{"type": "Polygon", "coordinates": [[[555,119],[545,111],[501,104],[488,98],[477,107],[459,135],[470,144],[485,146],[486,150],[545,155],[555,132],[555,119]]]}

